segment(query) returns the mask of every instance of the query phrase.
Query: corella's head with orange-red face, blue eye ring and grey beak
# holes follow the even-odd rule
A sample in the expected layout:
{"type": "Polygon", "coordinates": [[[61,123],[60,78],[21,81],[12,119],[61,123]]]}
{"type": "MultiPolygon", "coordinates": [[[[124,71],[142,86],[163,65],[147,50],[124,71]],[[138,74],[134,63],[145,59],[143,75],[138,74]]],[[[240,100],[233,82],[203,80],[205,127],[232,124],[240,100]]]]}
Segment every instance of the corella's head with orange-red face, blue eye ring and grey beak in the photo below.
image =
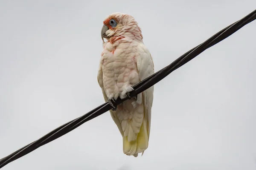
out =
{"type": "Polygon", "coordinates": [[[137,41],[142,41],[143,39],[141,29],[134,17],[119,12],[110,14],[103,21],[101,37],[103,42],[103,38],[106,38],[112,43],[124,37],[137,41]]]}

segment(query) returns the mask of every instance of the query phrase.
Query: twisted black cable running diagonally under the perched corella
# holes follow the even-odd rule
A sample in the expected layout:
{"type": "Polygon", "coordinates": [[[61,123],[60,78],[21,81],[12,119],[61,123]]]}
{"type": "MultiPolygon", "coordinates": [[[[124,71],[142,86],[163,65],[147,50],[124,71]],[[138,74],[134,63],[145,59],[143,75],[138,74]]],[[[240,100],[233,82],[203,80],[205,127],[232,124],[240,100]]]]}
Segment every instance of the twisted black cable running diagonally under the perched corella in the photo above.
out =
{"type": "MultiPolygon", "coordinates": [[[[231,24],[230,26],[227,26],[223,30],[219,31],[217,34],[210,37],[208,40],[203,42],[202,44],[196,46],[195,48],[191,49],[190,51],[183,54],[181,57],[176,59],[174,62],[172,62],[170,65],[166,66],[165,68],[161,69],[160,71],[157,71],[155,74],[149,76],[148,78],[144,79],[143,81],[139,82],[137,85],[134,85],[134,91],[131,91],[129,94],[131,97],[136,96],[137,94],[140,94],[141,92],[145,91],[146,89],[150,88],[163,78],[165,78],[167,75],[169,75],[172,71],[175,71],[177,68],[180,68],[182,65],[189,62],[191,59],[195,58],[199,54],[201,54],[204,50],[207,48],[210,48],[211,46],[217,44],[218,42],[221,42],[225,38],[229,37],[234,32],[238,31],[240,28],[245,26],[246,24],[252,22],[256,19],[256,10],[248,14],[246,17],[242,18],[241,20],[237,21],[236,23],[231,24]]],[[[118,98],[115,102],[116,105],[119,105],[123,101],[127,100],[118,98]]],[[[111,109],[111,106],[108,102],[100,105],[99,107],[93,109],[92,111],[84,114],[83,116],[74,119],[70,122],[67,122],[66,124],[56,128],[55,130],[52,130],[45,136],[41,137],[40,139],[26,145],[25,147],[20,148],[19,150],[15,151],[14,153],[10,154],[9,156],[6,156],[2,159],[0,159],[0,168],[4,167],[6,164],[9,164],[10,162],[19,159],[20,157],[32,152],[33,150],[37,149],[38,147],[41,147],[44,144],[47,144],[64,134],[70,132],[71,130],[74,130],[76,127],[79,127],[83,123],[109,111],[111,109]]]]}

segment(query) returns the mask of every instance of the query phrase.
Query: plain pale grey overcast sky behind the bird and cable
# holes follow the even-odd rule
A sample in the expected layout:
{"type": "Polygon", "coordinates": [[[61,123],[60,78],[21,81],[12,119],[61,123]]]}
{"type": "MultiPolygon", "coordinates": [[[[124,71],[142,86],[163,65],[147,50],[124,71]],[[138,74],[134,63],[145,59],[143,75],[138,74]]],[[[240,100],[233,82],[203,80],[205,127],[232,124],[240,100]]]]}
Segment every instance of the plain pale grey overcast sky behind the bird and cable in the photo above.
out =
{"type": "MultiPolygon", "coordinates": [[[[0,0],[0,158],[104,103],[105,17],[131,14],[155,71],[256,8],[256,0],[0,0]]],[[[154,88],[137,158],[105,113],[3,170],[255,170],[256,21],[154,88]]]]}

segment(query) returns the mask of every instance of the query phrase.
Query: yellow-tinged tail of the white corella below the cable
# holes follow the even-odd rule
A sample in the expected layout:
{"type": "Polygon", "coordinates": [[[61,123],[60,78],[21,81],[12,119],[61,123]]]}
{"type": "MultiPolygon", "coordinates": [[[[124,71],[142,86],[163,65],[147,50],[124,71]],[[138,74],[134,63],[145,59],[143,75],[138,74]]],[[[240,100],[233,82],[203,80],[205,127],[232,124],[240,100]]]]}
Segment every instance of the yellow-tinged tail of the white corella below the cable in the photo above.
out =
{"type": "Polygon", "coordinates": [[[138,156],[138,153],[144,153],[148,148],[148,132],[145,119],[140,127],[140,132],[137,134],[137,139],[128,142],[127,136],[123,136],[123,152],[128,156],[138,156]]]}

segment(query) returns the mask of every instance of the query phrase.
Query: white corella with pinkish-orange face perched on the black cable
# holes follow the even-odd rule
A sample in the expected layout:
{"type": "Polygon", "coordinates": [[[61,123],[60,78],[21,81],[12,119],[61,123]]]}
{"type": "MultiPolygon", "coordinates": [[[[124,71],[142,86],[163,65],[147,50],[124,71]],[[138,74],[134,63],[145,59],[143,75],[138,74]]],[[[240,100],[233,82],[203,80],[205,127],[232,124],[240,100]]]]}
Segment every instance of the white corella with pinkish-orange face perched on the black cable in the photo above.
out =
{"type": "MultiPolygon", "coordinates": [[[[154,74],[154,64],[138,23],[128,14],[113,13],[103,22],[103,51],[98,82],[106,102],[126,97],[132,86],[154,74]],[[104,41],[104,38],[107,41],[104,41]]],[[[110,110],[123,138],[123,152],[138,156],[148,148],[154,87],[110,110]]]]}

